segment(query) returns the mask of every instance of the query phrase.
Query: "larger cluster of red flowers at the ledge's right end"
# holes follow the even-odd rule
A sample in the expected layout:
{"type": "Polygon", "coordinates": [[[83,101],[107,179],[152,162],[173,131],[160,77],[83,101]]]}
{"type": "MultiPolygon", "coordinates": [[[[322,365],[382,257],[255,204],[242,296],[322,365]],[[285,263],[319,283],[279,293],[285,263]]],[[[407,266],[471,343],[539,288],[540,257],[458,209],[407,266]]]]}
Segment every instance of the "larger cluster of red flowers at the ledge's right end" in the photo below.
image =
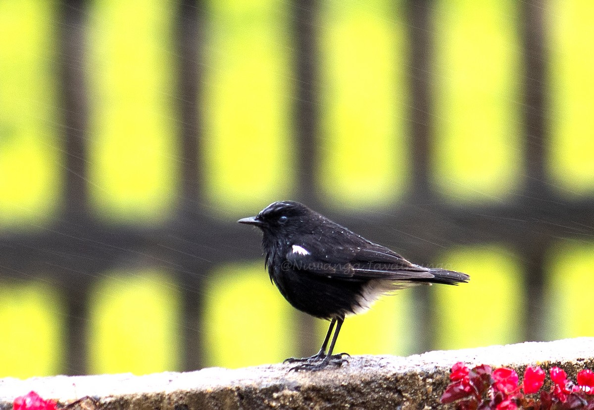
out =
{"type": "Polygon", "coordinates": [[[551,389],[542,390],[546,373],[540,367],[526,367],[519,383],[515,370],[486,365],[469,369],[459,362],[451,368],[451,383],[441,396],[442,403],[456,403],[460,410],[594,410],[594,372],[577,373],[577,384],[559,367],[549,370],[551,389]],[[540,395],[535,393],[540,391],[540,395]],[[526,396],[534,395],[534,396],[526,396]]]}

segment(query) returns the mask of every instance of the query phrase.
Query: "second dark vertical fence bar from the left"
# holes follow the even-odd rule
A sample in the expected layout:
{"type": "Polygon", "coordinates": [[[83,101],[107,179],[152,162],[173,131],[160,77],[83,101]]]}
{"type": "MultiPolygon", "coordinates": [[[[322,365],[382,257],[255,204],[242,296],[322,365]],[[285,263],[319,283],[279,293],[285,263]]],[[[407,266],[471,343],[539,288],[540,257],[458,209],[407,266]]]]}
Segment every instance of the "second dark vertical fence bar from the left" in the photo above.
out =
{"type": "MultiPolygon", "coordinates": [[[[204,5],[198,0],[182,0],[179,5],[177,47],[179,55],[179,121],[181,130],[181,209],[177,229],[185,243],[191,243],[194,230],[204,219],[201,193],[203,186],[200,166],[200,118],[198,116],[199,87],[201,78],[200,24],[204,5]]],[[[191,249],[188,249],[191,252],[191,249]]],[[[180,254],[181,255],[181,254],[180,254]]],[[[178,273],[182,289],[182,366],[184,370],[195,370],[203,363],[203,338],[201,322],[202,300],[196,292],[202,286],[199,275],[203,268],[198,260],[178,256],[178,266],[184,267],[178,273]],[[196,274],[192,274],[196,273],[196,274]]]]}

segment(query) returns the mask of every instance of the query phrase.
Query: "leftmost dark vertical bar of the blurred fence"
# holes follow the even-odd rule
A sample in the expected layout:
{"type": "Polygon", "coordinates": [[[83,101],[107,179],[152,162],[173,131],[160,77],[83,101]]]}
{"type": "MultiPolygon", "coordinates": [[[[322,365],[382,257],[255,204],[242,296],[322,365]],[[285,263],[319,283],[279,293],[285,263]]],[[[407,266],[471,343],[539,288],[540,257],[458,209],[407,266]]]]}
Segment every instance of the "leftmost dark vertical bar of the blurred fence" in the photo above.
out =
{"type": "MultiPolygon", "coordinates": [[[[84,2],[59,3],[59,71],[65,141],[65,229],[89,230],[86,161],[87,96],[84,84],[84,2]]],[[[63,232],[66,233],[66,232],[63,232]]],[[[66,280],[62,275],[67,309],[64,351],[66,373],[85,374],[87,358],[87,281],[77,275],[66,280]]]]}

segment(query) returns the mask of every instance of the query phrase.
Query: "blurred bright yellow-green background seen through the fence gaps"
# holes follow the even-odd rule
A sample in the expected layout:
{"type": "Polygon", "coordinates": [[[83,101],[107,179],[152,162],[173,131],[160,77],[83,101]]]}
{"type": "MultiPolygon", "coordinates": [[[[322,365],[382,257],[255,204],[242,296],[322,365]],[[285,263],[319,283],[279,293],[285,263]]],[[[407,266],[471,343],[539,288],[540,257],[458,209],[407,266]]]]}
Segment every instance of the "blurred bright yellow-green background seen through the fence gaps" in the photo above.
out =
{"type": "MultiPolygon", "coordinates": [[[[410,87],[411,56],[415,47],[425,47],[410,36],[415,12],[428,16],[425,81],[431,111],[421,114],[431,136],[429,188],[462,213],[539,195],[523,191],[529,166],[524,152],[532,135],[525,127],[531,73],[523,56],[522,4],[418,4],[327,1],[311,11],[317,157],[309,171],[318,204],[338,216],[337,222],[341,214],[390,214],[410,203],[412,113],[418,110],[410,87]]],[[[594,3],[542,4],[546,81],[539,84],[545,104],[538,115],[545,146],[536,148],[545,156],[545,172],[539,182],[560,203],[592,203],[594,3]]],[[[59,69],[66,58],[61,33],[69,12],[82,16],[82,57],[67,65],[80,66],[84,78],[87,168],[80,178],[89,217],[114,229],[167,232],[175,225],[185,183],[181,170],[188,166],[180,138],[185,126],[180,107],[187,102],[180,97],[176,46],[180,9],[165,0],[0,0],[0,252],[14,247],[14,238],[59,230],[64,218],[64,181],[74,172],[65,165],[72,153],[65,143],[69,113],[62,105],[59,69]]],[[[188,11],[196,13],[200,34],[189,44],[200,50],[194,63],[200,71],[195,138],[201,149],[190,164],[203,181],[197,208],[213,220],[234,223],[274,200],[299,199],[301,141],[293,110],[302,85],[291,29],[295,6],[207,0],[188,11]]],[[[572,227],[560,226],[558,235],[548,238],[536,299],[529,297],[530,289],[522,290],[527,275],[522,249],[501,238],[464,246],[420,238],[435,241],[437,256],[415,262],[466,272],[470,283],[434,286],[421,296],[405,290],[378,302],[366,315],[346,320],[337,351],[420,353],[418,339],[427,326],[435,333],[429,348],[522,341],[523,327],[534,319],[523,312],[533,303],[542,306],[542,339],[591,336],[594,226],[581,228],[576,235],[572,227]],[[418,313],[419,300],[431,303],[425,315],[418,313]],[[423,318],[429,325],[419,324],[423,318]]],[[[248,238],[258,241],[255,233],[248,238]]],[[[234,249],[228,251],[233,260],[234,249]]],[[[134,249],[131,256],[138,252],[145,251],[134,249]]],[[[208,258],[207,248],[198,246],[196,255],[208,258]]],[[[302,339],[310,341],[311,354],[317,351],[327,323],[298,316],[271,286],[258,255],[254,252],[252,261],[213,261],[210,270],[196,273],[204,276],[194,292],[203,301],[202,319],[195,323],[202,335],[202,366],[278,362],[300,353],[302,339]]],[[[65,351],[72,319],[64,302],[68,296],[43,264],[31,266],[15,271],[0,265],[0,377],[72,371],[65,351]]],[[[81,335],[88,373],[186,368],[181,334],[189,325],[183,323],[184,285],[174,271],[169,261],[121,261],[94,274],[81,335]]]]}

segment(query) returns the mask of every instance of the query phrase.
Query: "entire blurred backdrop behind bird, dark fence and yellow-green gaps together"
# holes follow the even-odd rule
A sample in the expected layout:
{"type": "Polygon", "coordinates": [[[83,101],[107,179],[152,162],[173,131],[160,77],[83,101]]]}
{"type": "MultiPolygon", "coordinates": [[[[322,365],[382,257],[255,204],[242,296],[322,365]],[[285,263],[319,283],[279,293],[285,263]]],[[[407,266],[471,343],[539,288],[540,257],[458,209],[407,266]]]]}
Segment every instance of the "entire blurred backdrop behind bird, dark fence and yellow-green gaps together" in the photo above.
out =
{"type": "Polygon", "coordinates": [[[281,198],[472,277],[349,319],[350,353],[591,334],[593,14],[0,2],[0,376],[317,350],[235,224],[281,198]]]}

